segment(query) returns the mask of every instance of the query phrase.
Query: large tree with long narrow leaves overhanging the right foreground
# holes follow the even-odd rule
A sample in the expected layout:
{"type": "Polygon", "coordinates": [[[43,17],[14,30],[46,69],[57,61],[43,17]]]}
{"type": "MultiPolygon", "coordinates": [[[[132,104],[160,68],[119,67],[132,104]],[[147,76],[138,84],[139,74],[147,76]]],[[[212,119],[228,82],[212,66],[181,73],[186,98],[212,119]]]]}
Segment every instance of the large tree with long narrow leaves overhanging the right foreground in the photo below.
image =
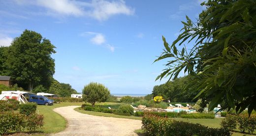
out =
{"type": "Polygon", "coordinates": [[[196,23],[186,16],[178,38],[156,60],[169,58],[157,77],[177,78],[181,71],[192,75],[188,86],[200,92],[196,98],[210,102],[209,110],[223,102],[222,109],[249,114],[256,110],[256,0],[209,0],[196,23]],[[188,41],[193,44],[190,51],[188,41]],[[188,47],[188,46],[187,46],[188,47]]]}

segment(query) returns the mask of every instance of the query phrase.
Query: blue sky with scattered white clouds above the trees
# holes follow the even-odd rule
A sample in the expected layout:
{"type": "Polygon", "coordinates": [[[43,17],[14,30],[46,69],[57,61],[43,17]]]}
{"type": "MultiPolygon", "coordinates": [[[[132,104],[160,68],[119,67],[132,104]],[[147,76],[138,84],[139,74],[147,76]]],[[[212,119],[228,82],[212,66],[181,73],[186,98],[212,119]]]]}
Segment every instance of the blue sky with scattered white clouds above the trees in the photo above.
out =
{"type": "MultiPolygon", "coordinates": [[[[186,15],[196,21],[202,0],[0,0],[0,45],[29,29],[56,47],[54,78],[82,92],[90,82],[112,94],[150,94],[186,15]]],[[[179,47],[178,47],[179,49],[179,47]]],[[[184,76],[181,74],[180,76],[184,76]]]]}

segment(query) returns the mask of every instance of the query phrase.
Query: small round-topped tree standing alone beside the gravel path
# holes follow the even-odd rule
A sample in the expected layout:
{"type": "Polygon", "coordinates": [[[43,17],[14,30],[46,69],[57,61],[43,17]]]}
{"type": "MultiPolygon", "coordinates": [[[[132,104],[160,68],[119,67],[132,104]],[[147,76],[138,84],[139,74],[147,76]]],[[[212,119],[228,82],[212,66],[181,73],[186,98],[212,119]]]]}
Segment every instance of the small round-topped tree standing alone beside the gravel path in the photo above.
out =
{"type": "Polygon", "coordinates": [[[91,82],[83,89],[83,100],[95,106],[96,102],[105,102],[110,94],[103,84],[91,82]]]}

